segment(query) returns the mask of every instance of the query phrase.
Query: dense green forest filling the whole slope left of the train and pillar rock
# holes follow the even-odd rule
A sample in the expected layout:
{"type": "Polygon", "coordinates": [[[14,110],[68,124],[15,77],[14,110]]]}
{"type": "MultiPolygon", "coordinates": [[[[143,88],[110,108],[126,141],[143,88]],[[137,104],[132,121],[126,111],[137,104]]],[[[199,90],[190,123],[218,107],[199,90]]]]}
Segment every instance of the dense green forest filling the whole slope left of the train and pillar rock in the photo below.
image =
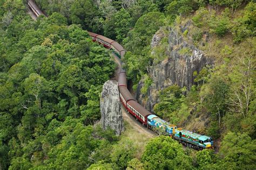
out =
{"type": "Polygon", "coordinates": [[[92,151],[117,140],[92,127],[114,63],[59,13],[35,22],[21,2],[22,7],[8,2],[3,16],[13,17],[1,25],[0,37],[0,167],[89,167],[92,151]]]}

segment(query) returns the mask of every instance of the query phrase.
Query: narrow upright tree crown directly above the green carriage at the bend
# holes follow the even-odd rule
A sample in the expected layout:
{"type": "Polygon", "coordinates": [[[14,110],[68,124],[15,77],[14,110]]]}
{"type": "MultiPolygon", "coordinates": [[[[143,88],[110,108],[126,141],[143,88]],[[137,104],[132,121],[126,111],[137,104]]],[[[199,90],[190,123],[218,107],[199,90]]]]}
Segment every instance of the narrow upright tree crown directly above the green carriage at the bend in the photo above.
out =
{"type": "Polygon", "coordinates": [[[131,17],[130,14],[122,8],[114,15],[114,18],[114,25],[116,26],[114,30],[117,35],[117,41],[122,42],[130,30],[131,17]]]}

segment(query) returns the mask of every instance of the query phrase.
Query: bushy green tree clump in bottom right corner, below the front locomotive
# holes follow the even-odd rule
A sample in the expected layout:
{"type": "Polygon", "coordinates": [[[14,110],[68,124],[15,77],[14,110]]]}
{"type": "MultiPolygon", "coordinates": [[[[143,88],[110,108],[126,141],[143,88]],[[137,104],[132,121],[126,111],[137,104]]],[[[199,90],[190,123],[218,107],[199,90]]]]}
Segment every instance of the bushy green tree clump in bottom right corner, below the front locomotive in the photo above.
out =
{"type": "Polygon", "coordinates": [[[201,169],[255,169],[255,140],[245,133],[227,133],[214,155],[211,151],[197,153],[198,166],[201,169]]]}

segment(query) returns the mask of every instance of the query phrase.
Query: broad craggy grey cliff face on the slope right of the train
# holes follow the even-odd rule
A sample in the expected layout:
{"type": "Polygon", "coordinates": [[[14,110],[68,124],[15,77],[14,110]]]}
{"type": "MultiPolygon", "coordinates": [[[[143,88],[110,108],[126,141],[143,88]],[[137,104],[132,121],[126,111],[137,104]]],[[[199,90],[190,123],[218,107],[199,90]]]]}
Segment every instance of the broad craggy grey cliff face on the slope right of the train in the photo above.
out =
{"type": "MultiPolygon", "coordinates": [[[[212,65],[212,60],[206,58],[203,51],[198,49],[193,44],[189,44],[184,40],[181,33],[187,30],[190,23],[179,29],[170,29],[169,34],[165,34],[163,30],[159,30],[152,38],[151,48],[154,53],[154,48],[160,46],[160,40],[168,37],[168,45],[166,46],[165,55],[167,58],[161,62],[153,63],[148,69],[149,75],[153,81],[146,95],[140,91],[144,86],[143,81],[140,81],[136,91],[136,98],[150,111],[159,102],[158,92],[173,84],[178,84],[180,87],[186,86],[187,89],[194,84],[193,72],[200,70],[206,65],[212,65]]],[[[165,31],[166,32],[166,31],[165,31]]]]}

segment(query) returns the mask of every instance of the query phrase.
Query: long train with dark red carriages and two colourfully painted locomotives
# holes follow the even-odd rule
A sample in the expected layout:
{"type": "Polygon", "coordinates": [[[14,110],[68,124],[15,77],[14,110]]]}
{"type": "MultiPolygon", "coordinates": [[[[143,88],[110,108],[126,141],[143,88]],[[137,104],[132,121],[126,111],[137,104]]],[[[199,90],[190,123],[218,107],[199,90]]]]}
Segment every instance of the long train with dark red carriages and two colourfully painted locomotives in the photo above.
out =
{"type": "MultiPolygon", "coordinates": [[[[38,8],[35,1],[29,0],[28,6],[36,17],[39,15],[46,16],[41,9],[38,8]]],[[[116,53],[119,58],[123,58],[125,55],[125,49],[117,41],[111,40],[97,33],[89,32],[89,34],[93,41],[102,44],[108,49],[113,49],[114,53],[116,53]]],[[[121,68],[119,70],[118,77],[120,101],[131,115],[138,119],[138,121],[147,128],[156,129],[158,131],[160,130],[188,147],[192,147],[197,150],[202,150],[203,148],[213,148],[213,140],[211,137],[184,130],[182,128],[177,128],[176,125],[170,124],[158,116],[151,114],[151,112],[140,105],[127,89],[126,72],[125,69],[122,68],[122,63],[120,63],[120,65],[121,68]]]]}

